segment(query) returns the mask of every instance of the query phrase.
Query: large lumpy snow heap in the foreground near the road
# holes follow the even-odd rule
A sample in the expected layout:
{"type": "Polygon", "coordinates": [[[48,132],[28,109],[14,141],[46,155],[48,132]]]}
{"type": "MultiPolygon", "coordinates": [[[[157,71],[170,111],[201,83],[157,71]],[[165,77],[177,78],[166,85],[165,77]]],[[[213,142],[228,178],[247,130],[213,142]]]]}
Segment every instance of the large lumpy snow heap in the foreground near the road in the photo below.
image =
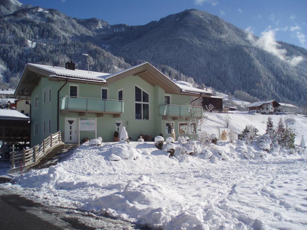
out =
{"type": "Polygon", "coordinates": [[[115,210],[118,214],[125,213],[130,218],[147,214],[147,216],[151,215],[151,219],[154,219],[157,216],[163,216],[163,210],[157,215],[156,212],[150,213],[153,209],[163,208],[163,206],[170,205],[172,202],[184,200],[181,194],[176,193],[176,196],[174,194],[173,190],[142,175],[137,180],[129,180],[120,192],[103,197],[88,198],[83,202],[85,203],[83,208],[91,211],[109,208],[115,210]]]}

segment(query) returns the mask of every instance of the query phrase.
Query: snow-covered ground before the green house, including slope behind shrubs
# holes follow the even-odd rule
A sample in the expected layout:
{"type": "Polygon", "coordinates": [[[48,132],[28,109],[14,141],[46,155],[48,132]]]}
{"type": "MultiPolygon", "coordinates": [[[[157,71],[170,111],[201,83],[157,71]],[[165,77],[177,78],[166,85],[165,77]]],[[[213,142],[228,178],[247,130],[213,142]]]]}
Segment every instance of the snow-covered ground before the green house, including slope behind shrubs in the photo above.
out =
{"type": "MultiPolygon", "coordinates": [[[[203,128],[223,128],[221,116],[210,113],[203,128]]],[[[252,121],[264,133],[266,115],[229,116],[236,117],[230,125],[238,132],[252,121]]],[[[272,117],[277,124],[280,116],[272,117]]],[[[306,119],[295,119],[293,126],[306,134],[306,119]]],[[[56,166],[30,170],[4,186],[45,205],[153,229],[307,229],[306,150],[267,153],[256,141],[238,140],[181,155],[182,145],[175,145],[169,158],[153,142],[83,144],[56,166]]]]}

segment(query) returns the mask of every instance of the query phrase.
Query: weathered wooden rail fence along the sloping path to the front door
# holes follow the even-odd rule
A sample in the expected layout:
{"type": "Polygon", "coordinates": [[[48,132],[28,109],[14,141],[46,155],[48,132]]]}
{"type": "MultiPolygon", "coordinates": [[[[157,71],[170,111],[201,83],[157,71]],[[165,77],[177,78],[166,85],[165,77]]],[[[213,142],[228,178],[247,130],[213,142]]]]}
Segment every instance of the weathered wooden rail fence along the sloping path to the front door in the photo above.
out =
{"type": "Polygon", "coordinates": [[[12,162],[12,169],[15,166],[23,164],[23,166],[32,167],[43,158],[48,151],[56,146],[63,144],[63,133],[58,131],[54,134],[50,134],[41,144],[34,146],[33,148],[24,149],[19,152],[10,152],[10,162],[12,162]]]}

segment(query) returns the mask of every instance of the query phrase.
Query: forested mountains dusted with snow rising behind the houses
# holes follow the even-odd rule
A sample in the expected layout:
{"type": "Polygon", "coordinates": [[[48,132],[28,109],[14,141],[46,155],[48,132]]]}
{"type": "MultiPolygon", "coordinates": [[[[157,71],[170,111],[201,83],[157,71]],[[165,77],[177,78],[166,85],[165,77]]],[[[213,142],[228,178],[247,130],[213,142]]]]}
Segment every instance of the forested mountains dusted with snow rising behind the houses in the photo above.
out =
{"type": "Polygon", "coordinates": [[[71,59],[86,69],[82,53],[89,53],[93,71],[114,72],[148,61],[172,78],[194,79],[227,94],[241,90],[259,99],[307,105],[306,49],[278,42],[276,54],[258,37],[199,10],[146,25],[109,25],[5,0],[0,18],[0,74],[12,87],[27,62],[64,66],[71,59]],[[286,55],[279,55],[283,49],[286,55]]]}

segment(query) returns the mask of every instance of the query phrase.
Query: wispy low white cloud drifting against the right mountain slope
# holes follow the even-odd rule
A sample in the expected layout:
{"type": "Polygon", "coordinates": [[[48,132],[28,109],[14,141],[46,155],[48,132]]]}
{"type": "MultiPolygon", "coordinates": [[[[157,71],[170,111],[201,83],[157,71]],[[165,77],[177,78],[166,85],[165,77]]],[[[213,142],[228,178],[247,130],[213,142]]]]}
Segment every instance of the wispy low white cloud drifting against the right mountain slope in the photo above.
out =
{"type": "MultiPolygon", "coordinates": [[[[289,63],[292,66],[296,66],[298,63],[300,63],[304,58],[302,56],[287,56],[287,50],[281,49],[280,44],[278,44],[275,40],[275,33],[278,31],[278,29],[269,29],[265,30],[261,33],[261,36],[259,38],[255,38],[251,34],[251,30],[247,28],[247,38],[251,41],[251,44],[255,47],[261,48],[281,60],[289,63]]],[[[298,32],[299,33],[299,32],[298,32]]],[[[304,40],[304,37],[303,37],[304,40]]]]}

